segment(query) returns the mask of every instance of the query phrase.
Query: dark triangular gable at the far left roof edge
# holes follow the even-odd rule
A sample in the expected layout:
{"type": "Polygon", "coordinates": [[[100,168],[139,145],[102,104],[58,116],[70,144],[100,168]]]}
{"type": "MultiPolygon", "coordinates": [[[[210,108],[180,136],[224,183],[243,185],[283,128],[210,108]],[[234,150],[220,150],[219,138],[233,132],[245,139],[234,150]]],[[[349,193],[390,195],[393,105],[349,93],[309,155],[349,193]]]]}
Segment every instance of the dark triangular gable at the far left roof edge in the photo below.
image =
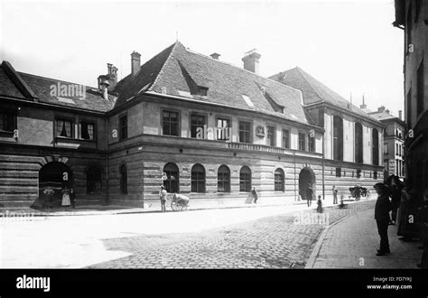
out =
{"type": "Polygon", "coordinates": [[[8,61],[2,62],[0,80],[2,86],[0,87],[0,94],[11,96],[14,98],[26,98],[33,100],[37,98],[32,88],[21,78],[18,72],[8,61]],[[3,85],[3,83],[5,85],[3,85]]]}

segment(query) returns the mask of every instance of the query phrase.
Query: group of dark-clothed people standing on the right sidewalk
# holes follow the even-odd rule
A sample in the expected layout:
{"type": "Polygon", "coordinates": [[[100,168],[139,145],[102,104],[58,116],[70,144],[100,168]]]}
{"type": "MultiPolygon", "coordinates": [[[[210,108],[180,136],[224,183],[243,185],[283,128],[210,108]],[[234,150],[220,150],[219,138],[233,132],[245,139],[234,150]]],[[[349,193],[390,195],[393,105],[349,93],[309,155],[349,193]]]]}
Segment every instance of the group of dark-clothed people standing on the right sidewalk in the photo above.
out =
{"type": "Polygon", "coordinates": [[[377,191],[375,219],[380,237],[377,256],[390,253],[387,229],[389,225],[396,224],[400,240],[422,240],[423,246],[418,248],[423,249],[423,256],[418,266],[428,268],[428,188],[421,194],[395,175],[388,177],[384,183],[376,183],[374,187],[377,191]]]}

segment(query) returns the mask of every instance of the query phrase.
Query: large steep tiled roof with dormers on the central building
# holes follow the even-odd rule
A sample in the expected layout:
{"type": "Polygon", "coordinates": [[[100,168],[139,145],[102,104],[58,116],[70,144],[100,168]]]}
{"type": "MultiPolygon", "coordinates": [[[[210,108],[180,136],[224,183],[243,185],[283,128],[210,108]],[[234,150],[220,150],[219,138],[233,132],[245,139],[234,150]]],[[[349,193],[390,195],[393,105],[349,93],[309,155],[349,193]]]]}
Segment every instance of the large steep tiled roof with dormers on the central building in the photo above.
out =
{"type": "Polygon", "coordinates": [[[131,88],[126,96],[119,96],[116,107],[143,89],[141,92],[153,91],[309,123],[302,107],[300,91],[187,50],[180,42],[175,42],[146,62],[134,80],[128,76],[119,84],[115,91],[120,92],[126,86],[131,88]],[[198,90],[205,88],[208,88],[206,96],[197,95],[198,90]]]}

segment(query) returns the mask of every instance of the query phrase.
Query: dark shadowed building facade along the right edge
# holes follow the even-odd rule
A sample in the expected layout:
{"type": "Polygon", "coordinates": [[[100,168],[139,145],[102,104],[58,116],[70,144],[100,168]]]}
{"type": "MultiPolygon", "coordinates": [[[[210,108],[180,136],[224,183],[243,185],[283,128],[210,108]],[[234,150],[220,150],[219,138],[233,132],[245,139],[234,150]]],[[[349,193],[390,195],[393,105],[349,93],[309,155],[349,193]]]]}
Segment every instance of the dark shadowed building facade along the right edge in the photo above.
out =
{"type": "Polygon", "coordinates": [[[409,182],[428,185],[428,0],[395,0],[394,25],[405,32],[405,161],[409,182]]]}

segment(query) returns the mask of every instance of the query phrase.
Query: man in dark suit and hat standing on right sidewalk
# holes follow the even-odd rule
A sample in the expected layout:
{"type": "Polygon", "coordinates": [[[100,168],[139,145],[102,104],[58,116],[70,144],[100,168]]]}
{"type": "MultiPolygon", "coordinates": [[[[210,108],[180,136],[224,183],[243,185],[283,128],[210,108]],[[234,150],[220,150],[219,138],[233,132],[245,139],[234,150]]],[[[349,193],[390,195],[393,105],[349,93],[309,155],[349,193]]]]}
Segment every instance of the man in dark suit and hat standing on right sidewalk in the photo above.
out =
{"type": "Polygon", "coordinates": [[[376,183],[377,201],[375,206],[375,219],[377,223],[377,232],[380,236],[380,248],[377,249],[376,256],[385,256],[389,254],[388,224],[391,202],[389,201],[388,186],[384,183],[376,183]]]}

